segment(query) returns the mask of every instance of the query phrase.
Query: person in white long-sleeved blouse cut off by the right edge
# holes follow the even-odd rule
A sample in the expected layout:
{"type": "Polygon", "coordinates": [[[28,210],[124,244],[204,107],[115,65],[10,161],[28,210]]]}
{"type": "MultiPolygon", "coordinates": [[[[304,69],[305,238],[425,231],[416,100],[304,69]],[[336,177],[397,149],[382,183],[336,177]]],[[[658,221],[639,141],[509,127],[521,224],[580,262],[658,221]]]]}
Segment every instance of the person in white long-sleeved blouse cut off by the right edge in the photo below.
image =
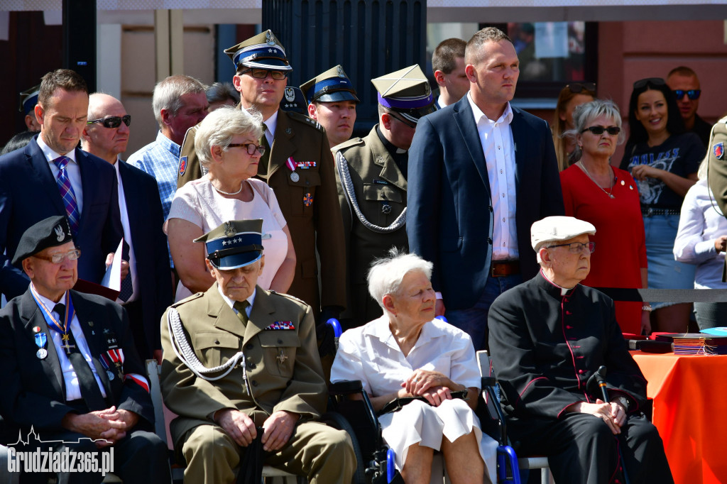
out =
{"type": "MultiPolygon", "coordinates": [[[[699,181],[689,188],[682,203],[674,257],[696,265],[694,289],[727,289],[722,282],[727,249],[727,219],[707,185],[707,159],[697,172],[699,181]]],[[[725,326],[727,302],[695,302],[699,329],[725,326]]]]}

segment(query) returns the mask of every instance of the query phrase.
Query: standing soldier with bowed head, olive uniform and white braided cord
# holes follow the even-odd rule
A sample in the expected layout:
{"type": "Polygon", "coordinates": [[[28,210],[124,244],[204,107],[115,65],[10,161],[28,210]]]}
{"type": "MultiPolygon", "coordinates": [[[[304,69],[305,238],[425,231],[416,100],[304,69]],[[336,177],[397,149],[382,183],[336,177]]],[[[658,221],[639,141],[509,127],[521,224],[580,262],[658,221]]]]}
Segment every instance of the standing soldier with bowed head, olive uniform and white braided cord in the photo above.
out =
{"type": "Polygon", "coordinates": [[[419,118],[432,113],[434,98],[419,65],[371,80],[378,91],[379,124],[365,138],[335,149],[338,198],[348,263],[346,328],[381,315],[366,274],[371,261],[391,247],[409,249],[406,238],[406,174],[409,145],[419,118]]]}

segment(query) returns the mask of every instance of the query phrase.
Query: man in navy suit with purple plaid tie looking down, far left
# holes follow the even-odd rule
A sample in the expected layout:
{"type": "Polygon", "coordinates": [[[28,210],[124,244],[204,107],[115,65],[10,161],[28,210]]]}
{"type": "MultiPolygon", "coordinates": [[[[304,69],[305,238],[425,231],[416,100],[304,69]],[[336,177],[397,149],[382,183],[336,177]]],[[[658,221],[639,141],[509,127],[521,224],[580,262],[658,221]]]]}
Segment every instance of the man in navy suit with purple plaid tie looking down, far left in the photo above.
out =
{"type": "MultiPolygon", "coordinates": [[[[7,299],[28,289],[23,271],[12,267],[25,230],[52,215],[65,215],[84,250],[79,278],[100,283],[123,231],[113,167],[76,149],[86,126],[86,83],[73,70],[43,76],[36,118],[41,133],[22,150],[0,157],[0,292],[7,299]],[[3,254],[4,251],[4,254],[3,254]]],[[[122,265],[122,278],[128,264],[122,265]]]]}

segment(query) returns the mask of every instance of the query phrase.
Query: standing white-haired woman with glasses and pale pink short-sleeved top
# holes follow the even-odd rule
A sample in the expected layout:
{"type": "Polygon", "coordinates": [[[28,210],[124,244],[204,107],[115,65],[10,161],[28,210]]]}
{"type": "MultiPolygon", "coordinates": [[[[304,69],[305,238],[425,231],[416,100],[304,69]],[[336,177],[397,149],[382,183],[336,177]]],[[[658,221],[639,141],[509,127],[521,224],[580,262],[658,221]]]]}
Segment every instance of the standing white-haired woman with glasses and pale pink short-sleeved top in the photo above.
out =
{"type": "Polygon", "coordinates": [[[262,116],[254,111],[219,108],[199,125],[194,148],[208,172],[177,190],[164,223],[180,277],[177,301],[214,283],[204,264],[204,243],[194,239],[240,219],[262,219],[265,266],[257,283],[262,289],[288,291],[295,271],[290,231],[273,190],[252,178],[265,153],[260,136],[262,116]]]}

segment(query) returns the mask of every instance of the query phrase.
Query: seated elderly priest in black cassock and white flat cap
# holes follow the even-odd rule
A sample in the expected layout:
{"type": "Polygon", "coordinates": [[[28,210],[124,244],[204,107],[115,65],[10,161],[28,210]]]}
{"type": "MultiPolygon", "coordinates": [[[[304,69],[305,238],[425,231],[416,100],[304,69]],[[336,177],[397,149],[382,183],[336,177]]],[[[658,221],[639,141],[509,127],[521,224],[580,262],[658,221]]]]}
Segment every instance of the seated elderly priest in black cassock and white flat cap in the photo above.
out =
{"type": "Polygon", "coordinates": [[[593,234],[593,225],[573,217],[535,222],[540,272],[490,308],[489,348],[510,439],[523,455],[547,456],[558,484],[624,483],[624,472],[631,484],[673,483],[659,432],[642,413],[646,379],[614,302],[579,284],[590,270],[593,234]],[[588,384],[600,366],[611,403],[588,384]]]}

